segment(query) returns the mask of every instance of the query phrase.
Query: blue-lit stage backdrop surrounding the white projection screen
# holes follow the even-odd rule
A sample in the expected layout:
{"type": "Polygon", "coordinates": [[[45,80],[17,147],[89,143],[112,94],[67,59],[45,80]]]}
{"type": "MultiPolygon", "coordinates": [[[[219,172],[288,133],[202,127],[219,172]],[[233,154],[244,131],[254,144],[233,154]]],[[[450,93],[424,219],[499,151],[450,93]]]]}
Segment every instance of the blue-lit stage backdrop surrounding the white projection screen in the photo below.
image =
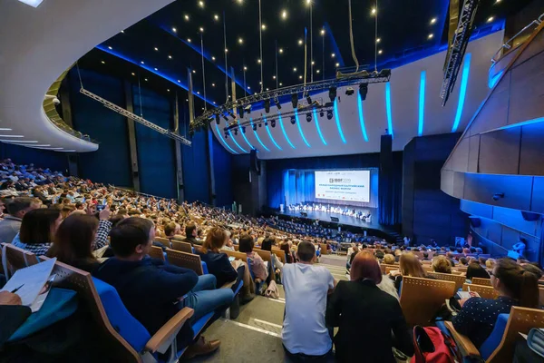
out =
{"type": "MultiPolygon", "coordinates": [[[[370,171],[370,201],[338,201],[316,198],[316,174],[314,170],[285,170],[283,171],[283,195],[286,206],[297,203],[321,203],[337,205],[353,205],[362,208],[378,207],[378,169],[370,171]]],[[[318,172],[325,172],[319,170],[318,172]]]]}

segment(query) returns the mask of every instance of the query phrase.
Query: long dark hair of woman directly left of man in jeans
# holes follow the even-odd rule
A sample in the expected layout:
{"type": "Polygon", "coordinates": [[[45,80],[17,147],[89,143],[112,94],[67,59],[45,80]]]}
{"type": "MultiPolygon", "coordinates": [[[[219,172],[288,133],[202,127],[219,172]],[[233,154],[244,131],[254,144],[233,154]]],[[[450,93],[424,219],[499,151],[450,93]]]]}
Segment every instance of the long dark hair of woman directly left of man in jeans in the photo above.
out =
{"type": "Polygon", "coordinates": [[[98,220],[90,215],[73,214],[66,218],[53,237],[48,257],[72,264],[75,260],[94,260],[92,243],[98,231],[98,220]]]}

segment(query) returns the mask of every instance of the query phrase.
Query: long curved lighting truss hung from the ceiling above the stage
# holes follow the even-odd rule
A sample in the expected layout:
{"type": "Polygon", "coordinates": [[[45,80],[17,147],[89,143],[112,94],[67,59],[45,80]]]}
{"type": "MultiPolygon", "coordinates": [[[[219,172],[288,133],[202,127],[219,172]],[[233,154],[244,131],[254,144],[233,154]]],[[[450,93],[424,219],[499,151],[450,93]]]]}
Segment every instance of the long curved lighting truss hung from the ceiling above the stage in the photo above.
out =
{"type": "MultiPolygon", "coordinates": [[[[257,103],[265,100],[274,100],[286,95],[297,93],[309,93],[313,91],[325,90],[331,87],[342,87],[345,85],[353,85],[360,83],[384,83],[389,82],[391,78],[391,70],[384,69],[381,72],[368,73],[366,71],[356,74],[336,74],[336,78],[316,81],[313,83],[297,84],[289,87],[278,88],[276,90],[267,91],[263,93],[250,94],[247,97],[240,98],[236,101],[231,101],[219,105],[216,108],[210,109],[202,113],[197,117],[189,126],[189,130],[194,131],[199,127],[202,127],[215,119],[216,115],[223,117],[230,114],[232,116],[232,110],[238,107],[245,107],[248,104],[257,103]]],[[[282,113],[283,115],[283,113],[282,113]]]]}

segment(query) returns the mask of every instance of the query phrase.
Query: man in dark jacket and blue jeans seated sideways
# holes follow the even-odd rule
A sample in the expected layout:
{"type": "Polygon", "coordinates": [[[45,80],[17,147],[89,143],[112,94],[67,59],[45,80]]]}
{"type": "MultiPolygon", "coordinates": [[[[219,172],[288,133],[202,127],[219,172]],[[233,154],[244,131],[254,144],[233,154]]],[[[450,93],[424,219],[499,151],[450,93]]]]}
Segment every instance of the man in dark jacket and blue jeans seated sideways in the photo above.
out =
{"type": "MultiPolygon", "coordinates": [[[[125,307],[151,335],[184,307],[195,310],[190,319],[194,323],[212,311],[219,317],[234,299],[232,289],[216,289],[213,275],[197,276],[193,270],[151,259],[148,252],[155,239],[152,221],[127,218],[112,229],[110,237],[115,256],[93,275],[117,289],[125,307]]],[[[192,337],[192,329],[185,324],[178,335],[179,347],[187,346],[192,337]]],[[[186,355],[208,354],[219,345],[219,340],[206,342],[200,337],[186,355]]]]}

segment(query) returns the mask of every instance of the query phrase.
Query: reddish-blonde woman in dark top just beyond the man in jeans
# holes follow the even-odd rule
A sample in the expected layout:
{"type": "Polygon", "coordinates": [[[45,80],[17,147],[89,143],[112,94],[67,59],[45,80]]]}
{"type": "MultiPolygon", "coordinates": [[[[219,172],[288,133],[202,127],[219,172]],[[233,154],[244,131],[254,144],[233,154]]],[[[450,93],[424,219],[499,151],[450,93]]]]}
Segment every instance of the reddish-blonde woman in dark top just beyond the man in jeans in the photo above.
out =
{"type": "Polygon", "coordinates": [[[197,250],[200,259],[206,262],[208,271],[217,279],[218,287],[225,285],[228,282],[234,282],[238,278],[237,270],[241,268],[241,278],[244,275],[244,264],[240,260],[228,260],[228,255],[221,253],[221,248],[225,245],[228,239],[227,231],[214,227],[206,236],[206,240],[202,244],[202,250],[197,250]]]}

